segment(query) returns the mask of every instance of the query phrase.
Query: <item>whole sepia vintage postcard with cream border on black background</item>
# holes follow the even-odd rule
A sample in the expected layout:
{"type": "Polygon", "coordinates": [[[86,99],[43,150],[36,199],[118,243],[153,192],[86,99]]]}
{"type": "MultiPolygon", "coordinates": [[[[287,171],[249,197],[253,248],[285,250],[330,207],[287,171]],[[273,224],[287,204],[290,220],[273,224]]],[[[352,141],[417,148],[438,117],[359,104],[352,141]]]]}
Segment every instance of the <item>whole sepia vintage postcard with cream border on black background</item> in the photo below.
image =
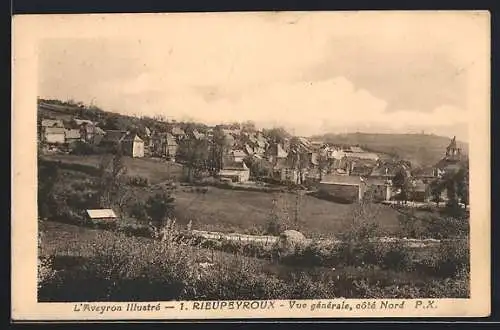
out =
{"type": "Polygon", "coordinates": [[[15,321],[490,313],[490,15],[13,18],[15,321]]]}

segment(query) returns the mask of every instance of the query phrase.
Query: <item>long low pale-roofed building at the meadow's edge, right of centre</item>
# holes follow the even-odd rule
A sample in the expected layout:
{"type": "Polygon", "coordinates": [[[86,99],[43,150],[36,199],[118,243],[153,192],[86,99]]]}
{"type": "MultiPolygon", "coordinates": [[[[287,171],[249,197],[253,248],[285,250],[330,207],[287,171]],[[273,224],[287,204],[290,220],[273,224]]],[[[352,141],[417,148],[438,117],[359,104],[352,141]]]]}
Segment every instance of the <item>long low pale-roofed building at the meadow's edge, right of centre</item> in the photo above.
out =
{"type": "Polygon", "coordinates": [[[367,185],[359,176],[327,175],[318,188],[322,194],[353,203],[363,199],[367,185]]]}

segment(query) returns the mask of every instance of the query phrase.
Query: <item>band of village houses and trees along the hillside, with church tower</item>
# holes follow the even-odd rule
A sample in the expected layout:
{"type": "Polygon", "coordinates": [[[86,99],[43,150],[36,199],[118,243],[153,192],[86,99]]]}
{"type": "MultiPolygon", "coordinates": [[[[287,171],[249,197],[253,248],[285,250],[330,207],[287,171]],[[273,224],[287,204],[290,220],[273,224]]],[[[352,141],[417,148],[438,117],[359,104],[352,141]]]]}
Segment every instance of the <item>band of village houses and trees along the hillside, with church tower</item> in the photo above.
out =
{"type": "MultiPolygon", "coordinates": [[[[439,202],[431,183],[467,167],[455,137],[434,166],[415,168],[410,161],[360,145],[292,136],[280,128],[259,130],[252,123],[169,122],[53,100],[39,100],[38,113],[39,150],[46,155],[120,152],[181,164],[190,182],[213,177],[239,185],[315,187],[343,202],[363,200],[368,192],[371,199],[390,202],[403,190],[405,201],[439,202]]],[[[447,198],[445,189],[441,198],[447,198]]]]}

